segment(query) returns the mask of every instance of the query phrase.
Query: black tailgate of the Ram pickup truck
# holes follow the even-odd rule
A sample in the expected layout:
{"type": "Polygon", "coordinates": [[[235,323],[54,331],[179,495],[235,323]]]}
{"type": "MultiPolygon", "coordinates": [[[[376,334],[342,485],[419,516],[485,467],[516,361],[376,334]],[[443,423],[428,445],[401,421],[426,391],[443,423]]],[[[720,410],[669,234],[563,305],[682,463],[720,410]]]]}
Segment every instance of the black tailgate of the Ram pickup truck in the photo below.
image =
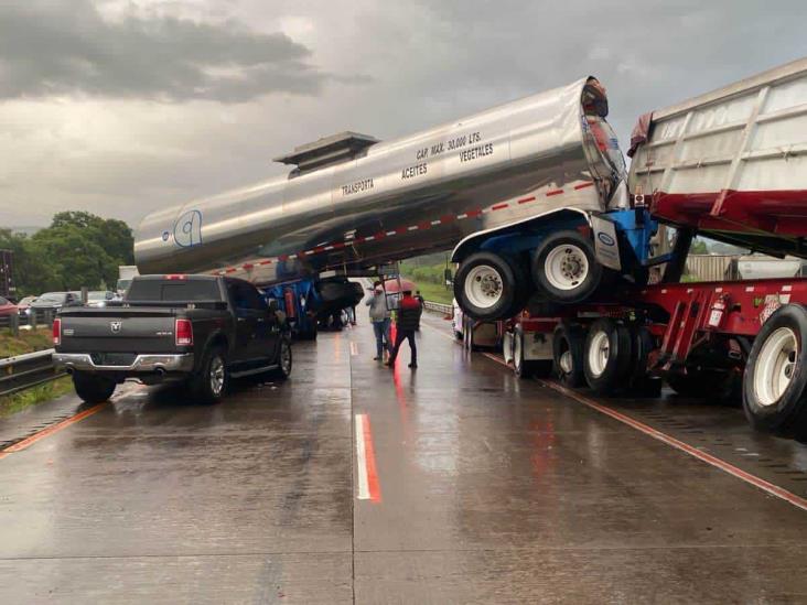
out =
{"type": "Polygon", "coordinates": [[[61,353],[176,353],[173,309],[82,309],[61,318],[61,353]]]}

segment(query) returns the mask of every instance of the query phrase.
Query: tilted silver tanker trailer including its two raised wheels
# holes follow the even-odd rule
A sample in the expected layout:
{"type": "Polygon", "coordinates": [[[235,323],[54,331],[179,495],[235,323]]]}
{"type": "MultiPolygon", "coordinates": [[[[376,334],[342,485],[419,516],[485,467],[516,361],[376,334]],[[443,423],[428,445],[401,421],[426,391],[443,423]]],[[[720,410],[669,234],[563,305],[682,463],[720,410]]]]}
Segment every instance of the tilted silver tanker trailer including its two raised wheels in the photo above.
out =
{"type": "Polygon", "coordinates": [[[628,203],[606,115],[588,77],[394,141],[321,139],[278,159],[288,177],[149,215],[137,263],[275,284],[453,250],[472,316],[512,316],[536,293],[578,302],[603,273],[592,215],[628,203]]]}

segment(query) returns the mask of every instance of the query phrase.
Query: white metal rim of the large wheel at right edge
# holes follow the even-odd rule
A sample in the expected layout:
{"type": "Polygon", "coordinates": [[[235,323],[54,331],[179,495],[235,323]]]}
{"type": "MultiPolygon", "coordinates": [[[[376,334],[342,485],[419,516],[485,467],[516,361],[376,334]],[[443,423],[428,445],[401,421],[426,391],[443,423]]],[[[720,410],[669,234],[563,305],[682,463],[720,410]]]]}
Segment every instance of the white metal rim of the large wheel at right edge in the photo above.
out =
{"type": "Polygon", "coordinates": [[[754,391],[761,406],[774,406],[796,372],[798,341],[789,327],[775,329],[760,349],[754,366],[754,391]]]}

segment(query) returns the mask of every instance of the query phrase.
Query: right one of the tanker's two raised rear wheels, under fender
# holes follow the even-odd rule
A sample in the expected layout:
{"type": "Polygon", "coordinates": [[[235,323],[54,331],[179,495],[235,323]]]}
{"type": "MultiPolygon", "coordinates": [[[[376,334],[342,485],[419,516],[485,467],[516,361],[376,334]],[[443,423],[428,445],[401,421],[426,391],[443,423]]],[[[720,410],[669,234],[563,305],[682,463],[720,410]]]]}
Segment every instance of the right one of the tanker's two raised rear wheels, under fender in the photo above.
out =
{"type": "Polygon", "coordinates": [[[549,301],[558,303],[578,303],[591,296],[602,272],[594,247],[578,231],[547,237],[532,259],[532,281],[549,301]]]}

